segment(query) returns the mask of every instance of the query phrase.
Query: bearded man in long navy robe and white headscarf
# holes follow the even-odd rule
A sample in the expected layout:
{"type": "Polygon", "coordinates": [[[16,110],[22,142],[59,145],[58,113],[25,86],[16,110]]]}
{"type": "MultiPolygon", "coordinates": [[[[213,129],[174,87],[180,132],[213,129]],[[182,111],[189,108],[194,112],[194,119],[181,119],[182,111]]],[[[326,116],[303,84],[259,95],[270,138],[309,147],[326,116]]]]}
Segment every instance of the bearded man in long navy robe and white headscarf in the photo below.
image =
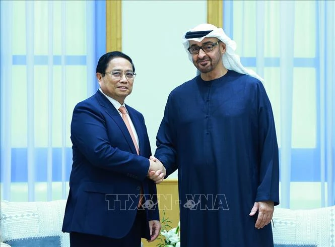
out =
{"type": "Polygon", "coordinates": [[[169,95],[155,157],[178,169],[181,246],[271,247],[279,155],[262,79],[221,28],[183,36],[199,76],[169,95]]]}

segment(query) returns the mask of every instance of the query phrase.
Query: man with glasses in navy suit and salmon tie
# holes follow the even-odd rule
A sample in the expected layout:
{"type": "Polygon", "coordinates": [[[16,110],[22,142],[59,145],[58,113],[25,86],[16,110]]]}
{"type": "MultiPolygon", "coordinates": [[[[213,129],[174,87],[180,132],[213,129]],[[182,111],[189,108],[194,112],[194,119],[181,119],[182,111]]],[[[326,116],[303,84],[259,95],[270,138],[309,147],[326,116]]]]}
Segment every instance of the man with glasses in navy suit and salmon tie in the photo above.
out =
{"type": "Polygon", "coordinates": [[[124,104],[136,75],[131,58],[108,52],[96,72],[99,90],[73,112],[62,231],[70,232],[72,247],[139,247],[141,237],[153,241],[161,229],[155,182],[163,180],[165,168],[149,159],[143,115],[124,104]]]}

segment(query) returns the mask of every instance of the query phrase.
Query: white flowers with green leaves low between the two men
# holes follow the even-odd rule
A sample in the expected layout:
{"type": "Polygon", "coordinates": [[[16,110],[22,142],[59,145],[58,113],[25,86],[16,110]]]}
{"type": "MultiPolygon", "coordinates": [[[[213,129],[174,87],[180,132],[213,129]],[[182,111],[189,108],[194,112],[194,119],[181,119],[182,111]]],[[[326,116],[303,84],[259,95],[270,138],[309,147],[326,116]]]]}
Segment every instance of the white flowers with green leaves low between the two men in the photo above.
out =
{"type": "Polygon", "coordinates": [[[172,228],[169,223],[172,223],[169,218],[165,218],[165,211],[163,210],[162,229],[160,232],[157,247],[180,247],[180,221],[178,226],[172,228]],[[168,228],[172,228],[167,231],[168,228]]]}

